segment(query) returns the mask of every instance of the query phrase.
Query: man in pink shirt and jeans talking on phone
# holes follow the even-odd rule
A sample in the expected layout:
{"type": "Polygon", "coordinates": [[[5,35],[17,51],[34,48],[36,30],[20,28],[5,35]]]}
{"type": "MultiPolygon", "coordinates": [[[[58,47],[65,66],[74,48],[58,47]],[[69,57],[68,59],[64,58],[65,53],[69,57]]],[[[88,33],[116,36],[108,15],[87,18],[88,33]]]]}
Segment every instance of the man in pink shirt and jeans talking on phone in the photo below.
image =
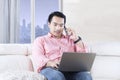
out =
{"type": "Polygon", "coordinates": [[[66,16],[52,12],[48,17],[50,32],[38,37],[33,44],[33,64],[36,71],[48,80],[92,80],[87,72],[60,72],[57,70],[63,52],[86,52],[80,37],[65,27],[66,16]],[[65,30],[66,35],[63,34],[65,30]]]}

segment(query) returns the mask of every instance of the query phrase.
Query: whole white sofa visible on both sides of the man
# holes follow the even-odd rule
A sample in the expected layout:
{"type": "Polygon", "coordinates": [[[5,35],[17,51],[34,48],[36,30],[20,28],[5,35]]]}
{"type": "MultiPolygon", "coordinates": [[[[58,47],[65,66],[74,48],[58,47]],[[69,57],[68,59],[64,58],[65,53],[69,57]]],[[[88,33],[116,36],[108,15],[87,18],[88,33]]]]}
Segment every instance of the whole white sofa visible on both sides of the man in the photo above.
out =
{"type": "MultiPolygon", "coordinates": [[[[96,43],[88,47],[90,52],[97,54],[91,69],[93,80],[120,80],[120,42],[96,43]]],[[[0,74],[8,71],[33,72],[29,57],[31,48],[32,44],[0,44],[0,74]]]]}

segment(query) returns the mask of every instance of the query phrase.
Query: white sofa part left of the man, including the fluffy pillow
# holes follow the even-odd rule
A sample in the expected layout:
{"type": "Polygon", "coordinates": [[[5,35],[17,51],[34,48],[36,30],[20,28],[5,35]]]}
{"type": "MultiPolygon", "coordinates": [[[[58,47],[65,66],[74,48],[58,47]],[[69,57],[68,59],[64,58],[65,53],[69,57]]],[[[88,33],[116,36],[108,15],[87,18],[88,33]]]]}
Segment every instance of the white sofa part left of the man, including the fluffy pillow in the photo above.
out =
{"type": "Polygon", "coordinates": [[[0,44],[0,80],[46,80],[34,72],[30,44],[0,44]]]}

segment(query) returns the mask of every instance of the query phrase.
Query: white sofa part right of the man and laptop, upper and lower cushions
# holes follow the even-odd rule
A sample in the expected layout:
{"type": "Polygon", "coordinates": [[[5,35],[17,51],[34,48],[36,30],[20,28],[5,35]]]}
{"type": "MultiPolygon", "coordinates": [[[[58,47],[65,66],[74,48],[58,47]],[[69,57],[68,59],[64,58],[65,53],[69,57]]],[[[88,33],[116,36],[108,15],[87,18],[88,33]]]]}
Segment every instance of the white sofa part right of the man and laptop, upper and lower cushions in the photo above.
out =
{"type": "Polygon", "coordinates": [[[90,46],[97,53],[91,70],[93,80],[120,80],[120,42],[104,42],[90,46]]]}

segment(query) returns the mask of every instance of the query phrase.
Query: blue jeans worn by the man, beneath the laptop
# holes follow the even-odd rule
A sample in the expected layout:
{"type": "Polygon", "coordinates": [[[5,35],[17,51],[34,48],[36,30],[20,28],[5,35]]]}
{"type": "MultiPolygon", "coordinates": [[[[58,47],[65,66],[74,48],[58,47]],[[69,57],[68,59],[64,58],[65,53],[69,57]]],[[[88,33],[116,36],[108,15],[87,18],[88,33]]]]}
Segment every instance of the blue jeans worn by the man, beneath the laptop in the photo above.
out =
{"type": "Polygon", "coordinates": [[[88,72],[60,72],[53,68],[44,68],[40,73],[48,80],[92,80],[88,72]]]}

